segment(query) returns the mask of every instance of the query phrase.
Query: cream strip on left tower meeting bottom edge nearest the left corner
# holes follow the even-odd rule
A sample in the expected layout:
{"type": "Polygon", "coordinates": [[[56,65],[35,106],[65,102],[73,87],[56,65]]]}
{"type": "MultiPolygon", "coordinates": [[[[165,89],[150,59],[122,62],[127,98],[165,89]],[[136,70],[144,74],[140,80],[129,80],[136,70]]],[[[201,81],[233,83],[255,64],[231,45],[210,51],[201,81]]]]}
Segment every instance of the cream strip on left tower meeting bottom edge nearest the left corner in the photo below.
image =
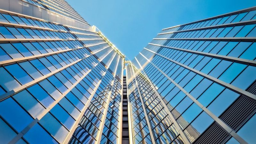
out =
{"type": "MultiPolygon", "coordinates": [[[[109,53],[108,53],[109,54],[109,53]]],[[[90,55],[91,56],[91,55],[90,55]]],[[[89,57],[89,56],[88,56],[89,57]]],[[[99,63],[100,63],[100,61],[99,61],[99,63]]],[[[94,66],[94,67],[92,67],[92,69],[93,68],[95,68],[96,66],[94,66]]],[[[13,143],[15,143],[15,142],[17,142],[18,140],[20,140],[20,138],[23,136],[23,135],[25,135],[28,131],[29,131],[29,129],[31,129],[46,113],[48,113],[62,98],[64,98],[66,95],[67,95],[67,93],[68,92],[70,92],[78,83],[80,83],[80,81],[82,81],[83,79],[84,79],[84,77],[85,76],[87,76],[91,71],[92,71],[92,69],[90,69],[86,74],[84,74],[84,76],[83,77],[81,77],[80,79],[79,79],[79,81],[77,81],[75,84],[73,84],[71,87],[70,87],[70,89],[68,89],[66,92],[64,92],[61,96],[60,96],[60,98],[58,98],[57,100],[55,100],[48,108],[46,108],[45,110],[44,110],[44,112],[42,112],[39,116],[37,116],[26,128],[24,128],[19,134],[17,134],[16,135],[16,137],[14,137],[12,140],[11,140],[11,142],[13,142],[13,143]]],[[[89,101],[89,100],[88,100],[89,101]]],[[[87,105],[87,103],[86,103],[86,105],[87,105]]],[[[83,111],[81,111],[81,113],[82,113],[83,111]]],[[[69,132],[71,132],[71,130],[69,131],[69,132]]],[[[10,143],[11,143],[10,142],[10,143]]]]}

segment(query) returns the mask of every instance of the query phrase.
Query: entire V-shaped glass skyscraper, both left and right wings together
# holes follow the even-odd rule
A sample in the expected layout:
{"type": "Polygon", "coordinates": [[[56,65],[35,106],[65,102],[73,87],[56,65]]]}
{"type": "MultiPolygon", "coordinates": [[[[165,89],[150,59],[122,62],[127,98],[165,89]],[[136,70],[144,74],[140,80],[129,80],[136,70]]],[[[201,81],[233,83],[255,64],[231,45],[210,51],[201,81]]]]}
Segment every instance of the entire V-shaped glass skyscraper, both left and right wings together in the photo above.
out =
{"type": "Polygon", "coordinates": [[[255,143],[255,14],[165,28],[129,61],[64,0],[0,0],[0,144],[255,143]]]}

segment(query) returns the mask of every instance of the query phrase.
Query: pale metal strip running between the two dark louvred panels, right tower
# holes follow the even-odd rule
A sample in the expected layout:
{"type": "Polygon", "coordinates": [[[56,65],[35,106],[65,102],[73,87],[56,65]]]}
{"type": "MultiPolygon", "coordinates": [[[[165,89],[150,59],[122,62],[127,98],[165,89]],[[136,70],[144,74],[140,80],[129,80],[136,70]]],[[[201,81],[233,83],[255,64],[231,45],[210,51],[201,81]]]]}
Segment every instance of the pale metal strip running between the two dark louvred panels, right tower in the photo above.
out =
{"type": "MultiPolygon", "coordinates": [[[[140,53],[141,54],[141,53],[140,53]]],[[[146,58],[143,54],[141,54],[144,58],[146,58]]],[[[146,58],[147,60],[147,58],[146,58]]],[[[227,124],[225,124],[223,121],[221,121],[217,116],[215,116],[210,110],[208,110],[206,107],[204,107],[198,100],[196,100],[190,93],[188,93],[185,89],[183,89],[179,84],[177,84],[172,78],[167,76],[161,69],[156,67],[155,64],[153,64],[151,61],[149,61],[150,64],[152,64],[157,70],[159,70],[166,78],[168,78],[175,86],[177,86],[182,92],[184,92],[191,100],[193,100],[204,112],[206,112],[209,116],[212,117],[212,119],[218,123],[224,130],[226,130],[228,133],[230,133],[231,136],[233,136],[239,143],[241,144],[248,144],[243,138],[241,138],[236,132],[234,132],[227,124]]]]}

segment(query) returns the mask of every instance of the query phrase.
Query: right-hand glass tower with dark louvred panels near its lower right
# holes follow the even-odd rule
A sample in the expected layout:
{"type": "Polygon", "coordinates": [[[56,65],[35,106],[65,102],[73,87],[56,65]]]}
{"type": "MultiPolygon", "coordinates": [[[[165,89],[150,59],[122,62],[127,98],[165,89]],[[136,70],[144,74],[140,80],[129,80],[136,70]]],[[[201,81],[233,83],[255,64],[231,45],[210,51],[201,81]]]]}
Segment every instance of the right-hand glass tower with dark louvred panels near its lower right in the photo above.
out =
{"type": "Polygon", "coordinates": [[[126,65],[130,140],[255,144],[256,7],[162,29],[126,65]]]}

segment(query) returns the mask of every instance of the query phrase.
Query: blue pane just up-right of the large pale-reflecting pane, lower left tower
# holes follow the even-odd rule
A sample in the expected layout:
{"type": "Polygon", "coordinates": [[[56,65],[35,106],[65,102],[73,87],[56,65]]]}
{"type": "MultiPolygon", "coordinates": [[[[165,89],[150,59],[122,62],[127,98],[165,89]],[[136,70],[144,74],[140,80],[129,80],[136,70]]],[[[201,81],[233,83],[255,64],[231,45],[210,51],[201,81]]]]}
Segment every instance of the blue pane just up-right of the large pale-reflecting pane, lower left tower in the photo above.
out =
{"type": "Polygon", "coordinates": [[[54,102],[52,97],[38,84],[29,87],[28,91],[34,97],[36,97],[36,99],[39,100],[46,108],[48,108],[54,102]]]}

